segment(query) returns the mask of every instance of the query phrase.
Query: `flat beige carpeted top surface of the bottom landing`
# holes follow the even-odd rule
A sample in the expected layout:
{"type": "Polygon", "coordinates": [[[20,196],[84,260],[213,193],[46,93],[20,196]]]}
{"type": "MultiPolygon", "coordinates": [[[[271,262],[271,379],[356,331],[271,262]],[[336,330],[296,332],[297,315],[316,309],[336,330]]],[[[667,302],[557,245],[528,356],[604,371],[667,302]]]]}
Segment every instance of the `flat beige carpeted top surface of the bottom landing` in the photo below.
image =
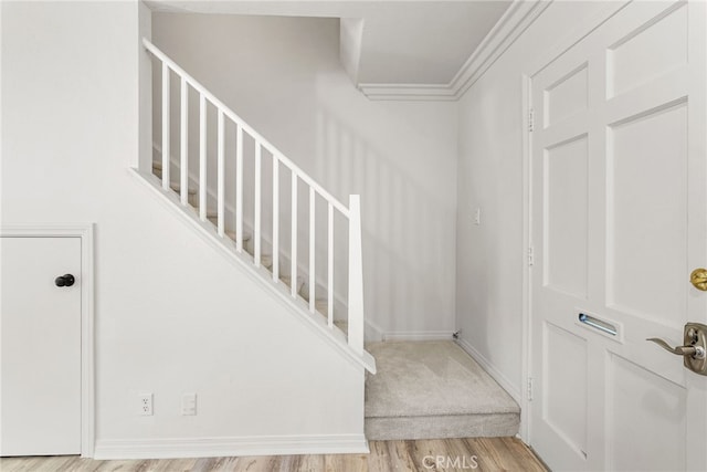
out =
{"type": "Polygon", "coordinates": [[[374,343],[366,417],[518,415],[513,398],[453,342],[374,343]]]}

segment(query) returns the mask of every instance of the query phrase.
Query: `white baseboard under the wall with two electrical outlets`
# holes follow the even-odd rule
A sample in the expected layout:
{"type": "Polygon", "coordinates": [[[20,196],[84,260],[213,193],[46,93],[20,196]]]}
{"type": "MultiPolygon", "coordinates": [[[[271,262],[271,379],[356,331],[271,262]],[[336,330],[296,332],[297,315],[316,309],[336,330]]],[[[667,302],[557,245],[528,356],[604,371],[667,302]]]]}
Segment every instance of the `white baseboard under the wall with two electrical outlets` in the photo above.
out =
{"type": "Polygon", "coordinates": [[[370,450],[363,434],[104,439],[96,441],[93,459],[181,459],[368,452],[370,450]]]}

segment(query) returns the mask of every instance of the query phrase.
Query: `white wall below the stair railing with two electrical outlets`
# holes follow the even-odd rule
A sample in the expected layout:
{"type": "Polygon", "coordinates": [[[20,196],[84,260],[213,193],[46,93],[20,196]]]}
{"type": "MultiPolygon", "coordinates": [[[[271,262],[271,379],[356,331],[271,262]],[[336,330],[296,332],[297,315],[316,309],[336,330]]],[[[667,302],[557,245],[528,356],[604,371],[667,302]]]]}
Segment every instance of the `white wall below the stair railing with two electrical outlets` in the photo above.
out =
{"type": "Polygon", "coordinates": [[[138,3],[0,8],[2,222],[95,222],[103,454],[130,455],[141,440],[154,440],[149,449],[211,438],[228,450],[233,438],[360,438],[362,368],[128,171],[138,154],[138,3]],[[155,416],[136,415],[137,391],[154,392],[155,416]],[[179,415],[183,392],[197,392],[198,416],[179,415]]]}

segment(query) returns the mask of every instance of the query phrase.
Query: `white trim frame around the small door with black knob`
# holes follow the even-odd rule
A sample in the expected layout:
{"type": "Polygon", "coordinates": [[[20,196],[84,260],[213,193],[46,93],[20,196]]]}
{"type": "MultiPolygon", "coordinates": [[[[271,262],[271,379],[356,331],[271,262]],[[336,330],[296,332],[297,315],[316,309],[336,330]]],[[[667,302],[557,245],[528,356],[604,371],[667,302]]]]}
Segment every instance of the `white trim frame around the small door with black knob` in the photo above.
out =
{"type": "Polygon", "coordinates": [[[0,237],[81,238],[81,457],[95,445],[93,223],[3,223],[0,237]]]}

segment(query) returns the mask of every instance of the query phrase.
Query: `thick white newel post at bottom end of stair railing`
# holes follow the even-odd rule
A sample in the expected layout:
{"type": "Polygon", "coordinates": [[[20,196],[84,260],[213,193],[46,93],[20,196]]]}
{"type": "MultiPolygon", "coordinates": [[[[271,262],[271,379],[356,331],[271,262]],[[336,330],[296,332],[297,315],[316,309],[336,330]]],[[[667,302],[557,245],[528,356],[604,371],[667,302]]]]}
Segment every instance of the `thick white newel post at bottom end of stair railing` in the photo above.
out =
{"type": "Polygon", "coordinates": [[[363,253],[361,249],[361,202],[349,196],[349,346],[363,354],[363,253]]]}

